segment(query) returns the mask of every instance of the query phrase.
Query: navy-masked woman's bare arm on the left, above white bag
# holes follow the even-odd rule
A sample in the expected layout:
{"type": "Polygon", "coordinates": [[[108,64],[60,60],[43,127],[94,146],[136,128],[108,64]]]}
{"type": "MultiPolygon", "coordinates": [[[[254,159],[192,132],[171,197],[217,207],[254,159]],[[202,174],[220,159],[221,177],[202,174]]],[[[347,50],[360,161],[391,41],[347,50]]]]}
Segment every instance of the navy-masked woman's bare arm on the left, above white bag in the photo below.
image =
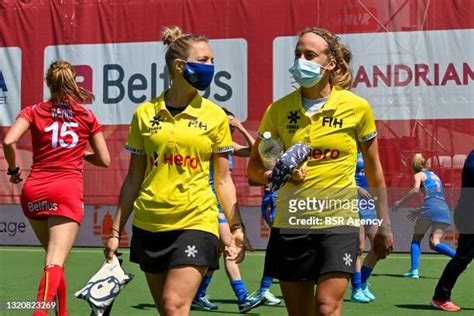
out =
{"type": "MultiPolygon", "coordinates": [[[[135,202],[143,179],[145,177],[146,156],[132,154],[128,173],[120,189],[119,204],[112,222],[111,236],[120,237],[121,232],[133,211],[135,202]]],[[[105,244],[105,254],[107,259],[111,259],[119,245],[118,238],[108,238],[105,244]]]]}

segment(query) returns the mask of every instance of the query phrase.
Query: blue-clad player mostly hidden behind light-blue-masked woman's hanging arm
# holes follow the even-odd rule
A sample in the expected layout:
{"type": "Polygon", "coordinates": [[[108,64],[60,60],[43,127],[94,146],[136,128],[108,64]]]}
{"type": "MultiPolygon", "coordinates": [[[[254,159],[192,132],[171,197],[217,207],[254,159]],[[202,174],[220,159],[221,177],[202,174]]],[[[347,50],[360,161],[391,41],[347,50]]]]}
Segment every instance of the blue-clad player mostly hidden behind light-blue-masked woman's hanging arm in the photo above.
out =
{"type": "MultiPolygon", "coordinates": [[[[359,195],[359,217],[364,222],[372,222],[377,219],[375,211],[375,204],[372,196],[369,193],[369,184],[365,177],[364,157],[362,153],[357,154],[357,164],[355,181],[359,195]]],[[[367,280],[370,277],[372,270],[377,263],[377,256],[373,250],[374,238],[377,233],[376,225],[360,225],[359,231],[359,254],[356,261],[356,272],[351,277],[352,295],[351,301],[356,303],[369,303],[375,300],[375,296],[370,292],[367,285],[367,280]],[[364,259],[362,264],[362,253],[365,248],[365,238],[369,238],[371,249],[364,259]]]]}

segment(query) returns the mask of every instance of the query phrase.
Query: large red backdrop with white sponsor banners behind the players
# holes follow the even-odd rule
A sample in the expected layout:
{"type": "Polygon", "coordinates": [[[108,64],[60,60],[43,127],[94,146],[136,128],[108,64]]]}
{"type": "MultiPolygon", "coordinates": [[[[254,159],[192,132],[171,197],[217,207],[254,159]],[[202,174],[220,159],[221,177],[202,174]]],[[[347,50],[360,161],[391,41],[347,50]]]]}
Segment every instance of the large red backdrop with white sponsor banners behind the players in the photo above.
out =
{"type": "MultiPolygon", "coordinates": [[[[47,96],[51,60],[71,60],[81,84],[99,96],[88,106],[106,127],[113,157],[107,170],[86,167],[86,203],[114,204],[128,168],[131,113],[168,82],[163,26],[211,39],[217,73],[206,96],[254,134],[268,104],[291,89],[293,36],[317,26],[353,49],[354,91],[373,106],[387,185],[411,186],[410,161],[422,152],[445,185],[456,187],[474,148],[473,12],[469,0],[2,1],[0,138],[22,107],[47,96]]],[[[18,149],[28,169],[29,137],[18,149]]],[[[260,188],[247,185],[247,161],[235,164],[240,203],[259,204],[260,188]]],[[[20,190],[1,177],[0,204],[18,203],[20,190]]]]}

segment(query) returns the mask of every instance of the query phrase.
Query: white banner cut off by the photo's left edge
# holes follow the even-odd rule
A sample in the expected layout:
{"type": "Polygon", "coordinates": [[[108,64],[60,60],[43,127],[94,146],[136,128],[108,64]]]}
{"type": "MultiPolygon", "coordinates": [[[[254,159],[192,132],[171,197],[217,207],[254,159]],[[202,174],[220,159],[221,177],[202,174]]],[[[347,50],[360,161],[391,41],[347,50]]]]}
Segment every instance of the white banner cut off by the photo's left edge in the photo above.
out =
{"type": "Polygon", "coordinates": [[[15,122],[21,109],[21,49],[0,47],[0,126],[15,122]]]}

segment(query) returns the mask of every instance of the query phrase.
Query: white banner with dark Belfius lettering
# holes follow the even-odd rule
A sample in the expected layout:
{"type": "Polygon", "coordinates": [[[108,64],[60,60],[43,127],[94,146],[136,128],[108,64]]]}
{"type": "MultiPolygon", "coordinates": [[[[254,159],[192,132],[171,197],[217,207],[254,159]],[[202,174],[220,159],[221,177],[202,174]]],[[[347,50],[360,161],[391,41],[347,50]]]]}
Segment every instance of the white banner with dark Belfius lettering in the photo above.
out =
{"type": "MultiPolygon", "coordinates": [[[[247,42],[211,40],[216,60],[213,82],[203,96],[247,119],[247,42]]],[[[162,42],[48,46],[44,71],[56,59],[71,62],[77,81],[95,94],[89,108],[102,124],[130,124],[140,103],[160,95],[169,85],[162,42]]],[[[45,99],[49,90],[44,86],[45,99]]]]}

